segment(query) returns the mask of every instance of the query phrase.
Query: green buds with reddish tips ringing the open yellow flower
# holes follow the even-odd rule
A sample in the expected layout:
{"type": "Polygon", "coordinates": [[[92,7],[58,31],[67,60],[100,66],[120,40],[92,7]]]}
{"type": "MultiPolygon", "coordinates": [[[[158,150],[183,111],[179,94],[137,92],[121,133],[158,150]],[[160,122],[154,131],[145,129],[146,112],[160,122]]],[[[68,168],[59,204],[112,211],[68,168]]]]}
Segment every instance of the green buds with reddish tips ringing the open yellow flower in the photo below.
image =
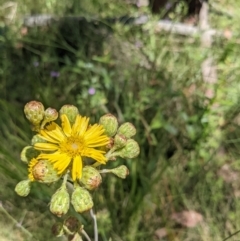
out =
{"type": "MultiPolygon", "coordinates": [[[[92,209],[94,203],[90,192],[99,187],[102,183],[103,173],[112,173],[119,178],[126,178],[129,170],[125,165],[120,165],[112,169],[100,169],[101,163],[95,162],[83,163],[82,175],[80,179],[74,182],[69,175],[69,170],[59,174],[58,170],[48,159],[39,158],[41,151],[35,149],[35,144],[46,143],[41,138],[41,130],[51,126],[51,123],[58,121],[62,115],[66,115],[70,124],[74,125],[76,116],[79,115],[77,107],[73,105],[64,105],[59,112],[53,108],[45,109],[43,104],[38,101],[31,101],[24,107],[26,118],[31,123],[31,128],[36,132],[31,140],[31,145],[23,148],[21,160],[27,164],[29,175],[26,180],[20,181],[15,191],[18,195],[25,197],[30,193],[31,183],[33,181],[43,184],[51,184],[56,181],[62,181],[61,186],[52,195],[50,201],[50,211],[58,217],[68,213],[70,205],[77,213],[83,213],[92,209]],[[69,184],[71,188],[69,188],[69,184]]],[[[130,122],[119,125],[117,118],[112,114],[106,114],[99,120],[99,125],[104,128],[104,135],[108,136],[110,142],[105,147],[106,160],[115,161],[117,157],[123,159],[132,159],[138,156],[140,149],[138,143],[133,139],[136,134],[136,128],[130,122]]],[[[71,165],[70,165],[71,166],[71,165]]],[[[70,167],[69,167],[70,168],[70,167]]],[[[81,240],[81,225],[76,224],[75,229],[68,227],[69,220],[65,224],[57,225],[54,232],[57,236],[62,234],[76,236],[76,240],[81,240]],[[76,228],[77,226],[77,228],[76,228]]],[[[74,239],[75,240],[75,239],[74,239]]]]}

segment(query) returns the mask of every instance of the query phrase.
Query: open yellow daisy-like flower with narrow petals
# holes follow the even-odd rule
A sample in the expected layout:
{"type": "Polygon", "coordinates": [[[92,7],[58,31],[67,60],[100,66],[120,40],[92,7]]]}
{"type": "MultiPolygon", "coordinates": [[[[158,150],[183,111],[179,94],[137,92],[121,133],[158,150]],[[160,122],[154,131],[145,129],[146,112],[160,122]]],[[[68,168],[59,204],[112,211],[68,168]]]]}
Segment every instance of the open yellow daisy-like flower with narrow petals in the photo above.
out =
{"type": "Polygon", "coordinates": [[[97,148],[106,146],[109,137],[101,125],[89,125],[89,118],[77,115],[71,126],[67,116],[61,115],[62,127],[55,122],[39,132],[45,143],[35,143],[34,148],[42,151],[37,159],[47,159],[53,163],[58,174],[71,168],[72,179],[81,179],[83,157],[90,157],[101,164],[107,159],[105,151],[97,148]]]}

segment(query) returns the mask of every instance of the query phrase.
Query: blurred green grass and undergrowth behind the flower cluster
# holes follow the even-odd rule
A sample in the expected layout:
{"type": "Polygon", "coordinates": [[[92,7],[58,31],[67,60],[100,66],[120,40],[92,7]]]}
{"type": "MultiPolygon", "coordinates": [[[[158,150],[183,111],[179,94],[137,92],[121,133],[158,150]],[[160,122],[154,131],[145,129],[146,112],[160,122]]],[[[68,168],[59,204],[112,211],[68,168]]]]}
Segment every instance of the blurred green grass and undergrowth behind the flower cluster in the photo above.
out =
{"type": "MultiPolygon", "coordinates": [[[[93,193],[100,240],[240,240],[240,1],[209,1],[222,33],[211,48],[201,34],[156,31],[164,13],[129,2],[0,0],[1,241],[65,240],[51,233],[53,187],[14,192],[27,175],[19,155],[30,143],[30,100],[136,126],[141,154],[126,161],[130,175],[104,176],[93,193]],[[35,14],[54,21],[30,27],[35,14]],[[132,24],[144,14],[146,24],[132,24]],[[214,83],[202,75],[209,56],[214,83]]],[[[168,18],[186,22],[186,11],[179,1],[168,18]]],[[[89,215],[78,218],[92,234],[89,215]]]]}

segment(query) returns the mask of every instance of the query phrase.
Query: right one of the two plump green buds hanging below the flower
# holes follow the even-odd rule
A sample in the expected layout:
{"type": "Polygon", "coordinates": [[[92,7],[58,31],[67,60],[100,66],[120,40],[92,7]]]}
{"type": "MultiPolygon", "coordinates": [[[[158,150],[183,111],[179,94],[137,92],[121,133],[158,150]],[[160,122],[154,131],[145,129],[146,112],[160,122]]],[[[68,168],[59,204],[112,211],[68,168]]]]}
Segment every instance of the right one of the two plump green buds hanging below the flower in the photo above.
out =
{"type": "Polygon", "coordinates": [[[93,200],[90,193],[80,186],[75,187],[71,202],[75,211],[78,213],[83,213],[93,207],[93,200]]]}

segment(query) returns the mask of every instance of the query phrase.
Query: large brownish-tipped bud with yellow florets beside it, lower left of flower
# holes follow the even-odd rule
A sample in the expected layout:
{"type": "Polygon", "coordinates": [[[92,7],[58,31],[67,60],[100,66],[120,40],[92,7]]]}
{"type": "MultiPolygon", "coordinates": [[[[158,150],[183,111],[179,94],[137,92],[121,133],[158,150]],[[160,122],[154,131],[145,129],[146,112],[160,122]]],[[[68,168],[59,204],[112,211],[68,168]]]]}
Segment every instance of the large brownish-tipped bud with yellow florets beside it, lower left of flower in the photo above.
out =
{"type": "Polygon", "coordinates": [[[48,160],[39,160],[36,165],[32,167],[32,175],[35,181],[42,183],[56,182],[61,177],[48,160]]]}

